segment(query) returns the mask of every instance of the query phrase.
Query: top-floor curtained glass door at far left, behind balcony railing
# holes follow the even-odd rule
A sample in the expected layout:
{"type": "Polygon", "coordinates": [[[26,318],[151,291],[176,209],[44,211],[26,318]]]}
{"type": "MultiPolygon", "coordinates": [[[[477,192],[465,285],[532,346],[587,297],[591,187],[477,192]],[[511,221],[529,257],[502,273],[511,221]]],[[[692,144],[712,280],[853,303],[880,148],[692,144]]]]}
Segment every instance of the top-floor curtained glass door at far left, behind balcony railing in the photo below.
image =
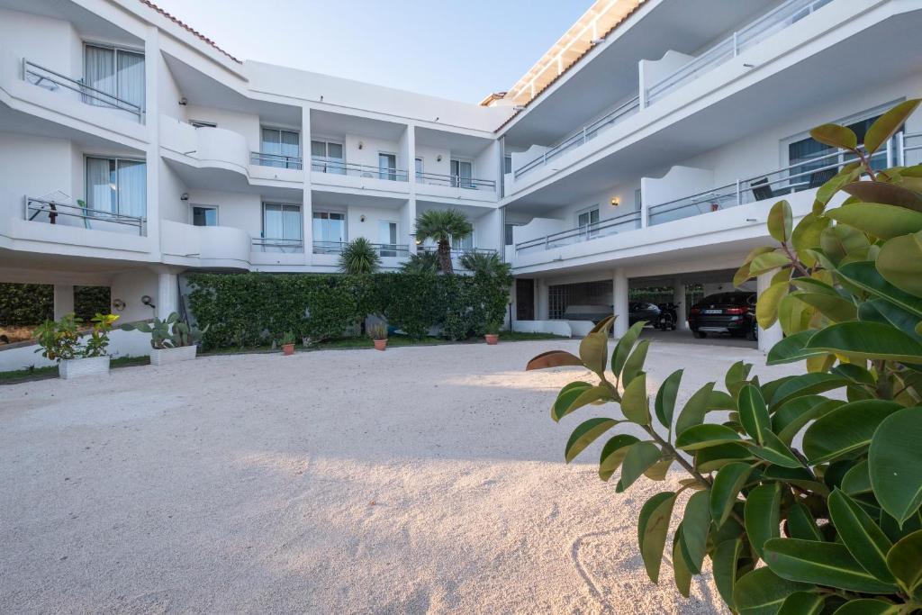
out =
{"type": "Polygon", "coordinates": [[[89,92],[85,102],[112,107],[119,106],[114,101],[119,99],[138,109],[144,108],[144,53],[86,45],[83,72],[90,88],[104,92],[102,95],[89,92]]]}

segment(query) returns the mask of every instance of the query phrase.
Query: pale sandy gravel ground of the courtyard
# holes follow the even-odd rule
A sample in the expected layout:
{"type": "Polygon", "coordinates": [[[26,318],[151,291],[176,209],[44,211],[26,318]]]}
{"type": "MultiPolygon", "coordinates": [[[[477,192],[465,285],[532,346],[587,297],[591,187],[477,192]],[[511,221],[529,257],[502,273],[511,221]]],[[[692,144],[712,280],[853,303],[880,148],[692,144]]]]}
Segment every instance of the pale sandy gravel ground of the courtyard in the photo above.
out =
{"type": "MultiPolygon", "coordinates": [[[[585,373],[522,368],[576,347],[239,355],[2,387],[0,612],[722,612],[709,574],[686,600],[637,554],[640,506],[682,475],[616,494],[601,442],[564,465],[604,408],[557,425],[555,390],[585,373]]],[[[739,359],[763,361],[657,342],[649,382],[685,367],[687,398],[739,359]]]]}

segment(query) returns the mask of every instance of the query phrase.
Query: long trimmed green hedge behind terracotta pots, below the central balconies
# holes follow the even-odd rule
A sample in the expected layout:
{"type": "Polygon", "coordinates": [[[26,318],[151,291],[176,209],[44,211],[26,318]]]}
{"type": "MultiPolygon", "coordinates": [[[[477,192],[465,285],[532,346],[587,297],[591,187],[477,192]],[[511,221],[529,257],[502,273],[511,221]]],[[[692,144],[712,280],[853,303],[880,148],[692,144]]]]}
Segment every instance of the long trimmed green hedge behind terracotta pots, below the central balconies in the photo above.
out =
{"type": "Polygon", "coordinates": [[[206,348],[245,348],[296,337],[342,336],[379,314],[413,337],[440,326],[445,337],[484,332],[506,313],[509,279],[384,273],[191,274],[189,310],[208,325],[206,348]]]}

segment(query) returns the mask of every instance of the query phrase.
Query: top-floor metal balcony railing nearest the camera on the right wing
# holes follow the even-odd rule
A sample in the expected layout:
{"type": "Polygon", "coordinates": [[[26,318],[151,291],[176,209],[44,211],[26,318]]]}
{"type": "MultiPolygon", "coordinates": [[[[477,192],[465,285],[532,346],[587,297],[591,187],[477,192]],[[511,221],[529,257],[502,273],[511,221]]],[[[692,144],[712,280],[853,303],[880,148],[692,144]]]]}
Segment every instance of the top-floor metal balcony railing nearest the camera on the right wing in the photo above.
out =
{"type": "Polygon", "coordinates": [[[734,58],[750,47],[764,41],[775,32],[786,29],[793,23],[807,17],[832,0],[787,0],[776,6],[761,18],[741,30],[733,32],[727,39],[716,43],[706,52],[692,59],[688,64],[646,89],[645,104],[649,105],[668,92],[680,88],[694,77],[710,72],[727,60],[734,58]]]}

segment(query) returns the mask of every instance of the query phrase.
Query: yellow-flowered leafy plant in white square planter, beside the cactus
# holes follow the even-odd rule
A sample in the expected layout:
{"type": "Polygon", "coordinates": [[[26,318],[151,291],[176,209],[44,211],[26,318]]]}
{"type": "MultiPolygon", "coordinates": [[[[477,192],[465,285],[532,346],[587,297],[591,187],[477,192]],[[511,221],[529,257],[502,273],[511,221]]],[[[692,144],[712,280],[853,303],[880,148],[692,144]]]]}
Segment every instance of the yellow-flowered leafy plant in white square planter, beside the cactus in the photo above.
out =
{"type": "Polygon", "coordinates": [[[83,322],[73,313],[65,314],[59,321],[45,321],[34,335],[38,339],[41,356],[57,361],[58,374],[65,380],[93,373],[109,372],[109,332],[115,314],[97,313],[90,320],[92,330],[85,345],[80,344],[79,325],[83,322]]]}

